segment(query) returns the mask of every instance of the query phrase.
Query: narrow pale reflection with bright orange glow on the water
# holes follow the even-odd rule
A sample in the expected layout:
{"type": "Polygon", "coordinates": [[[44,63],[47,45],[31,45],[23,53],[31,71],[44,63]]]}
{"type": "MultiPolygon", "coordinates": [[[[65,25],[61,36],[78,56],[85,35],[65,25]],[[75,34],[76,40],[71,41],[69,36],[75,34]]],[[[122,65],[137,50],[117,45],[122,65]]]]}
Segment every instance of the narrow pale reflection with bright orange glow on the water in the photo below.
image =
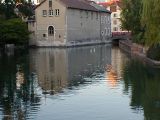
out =
{"type": "Polygon", "coordinates": [[[114,47],[111,53],[111,64],[106,65],[106,80],[110,87],[116,87],[122,79],[123,67],[128,58],[118,47],[114,47]]]}

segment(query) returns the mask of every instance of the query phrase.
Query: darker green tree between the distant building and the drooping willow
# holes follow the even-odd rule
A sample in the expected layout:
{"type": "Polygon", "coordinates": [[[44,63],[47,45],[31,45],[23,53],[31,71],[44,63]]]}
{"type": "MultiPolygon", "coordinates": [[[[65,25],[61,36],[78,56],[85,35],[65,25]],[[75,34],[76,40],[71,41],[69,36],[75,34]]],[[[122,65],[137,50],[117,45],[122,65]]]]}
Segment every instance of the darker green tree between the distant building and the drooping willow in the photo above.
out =
{"type": "Polygon", "coordinates": [[[133,41],[144,43],[144,28],[141,26],[141,0],[122,0],[122,28],[132,32],[133,41]]]}

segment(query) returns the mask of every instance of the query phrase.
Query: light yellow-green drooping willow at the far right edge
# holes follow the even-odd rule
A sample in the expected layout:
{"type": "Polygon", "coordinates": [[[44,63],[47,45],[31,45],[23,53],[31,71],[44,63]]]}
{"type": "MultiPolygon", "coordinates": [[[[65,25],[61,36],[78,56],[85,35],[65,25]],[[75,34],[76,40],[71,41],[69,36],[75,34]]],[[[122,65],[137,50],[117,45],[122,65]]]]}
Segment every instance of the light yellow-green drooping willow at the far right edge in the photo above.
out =
{"type": "Polygon", "coordinates": [[[145,43],[154,46],[160,43],[160,0],[142,0],[142,24],[145,26],[145,43]]]}

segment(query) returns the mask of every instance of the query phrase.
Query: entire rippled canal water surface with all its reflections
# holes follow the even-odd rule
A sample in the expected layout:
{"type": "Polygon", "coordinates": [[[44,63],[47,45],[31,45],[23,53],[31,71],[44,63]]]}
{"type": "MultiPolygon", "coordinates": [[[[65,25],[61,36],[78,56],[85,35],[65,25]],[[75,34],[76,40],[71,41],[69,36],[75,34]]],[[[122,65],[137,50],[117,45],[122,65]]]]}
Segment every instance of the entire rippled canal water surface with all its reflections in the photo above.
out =
{"type": "Polygon", "coordinates": [[[160,70],[110,45],[0,54],[2,120],[160,120],[160,70]]]}

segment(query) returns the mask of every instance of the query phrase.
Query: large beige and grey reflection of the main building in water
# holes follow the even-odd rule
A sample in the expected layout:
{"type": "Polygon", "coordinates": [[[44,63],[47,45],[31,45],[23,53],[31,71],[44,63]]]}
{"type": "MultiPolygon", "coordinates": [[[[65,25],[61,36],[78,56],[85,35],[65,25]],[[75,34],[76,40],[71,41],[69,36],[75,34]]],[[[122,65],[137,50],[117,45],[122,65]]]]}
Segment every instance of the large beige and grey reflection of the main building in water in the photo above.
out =
{"type": "Polygon", "coordinates": [[[111,46],[30,50],[30,70],[37,74],[44,94],[62,92],[85,83],[85,77],[111,64],[111,46]]]}

